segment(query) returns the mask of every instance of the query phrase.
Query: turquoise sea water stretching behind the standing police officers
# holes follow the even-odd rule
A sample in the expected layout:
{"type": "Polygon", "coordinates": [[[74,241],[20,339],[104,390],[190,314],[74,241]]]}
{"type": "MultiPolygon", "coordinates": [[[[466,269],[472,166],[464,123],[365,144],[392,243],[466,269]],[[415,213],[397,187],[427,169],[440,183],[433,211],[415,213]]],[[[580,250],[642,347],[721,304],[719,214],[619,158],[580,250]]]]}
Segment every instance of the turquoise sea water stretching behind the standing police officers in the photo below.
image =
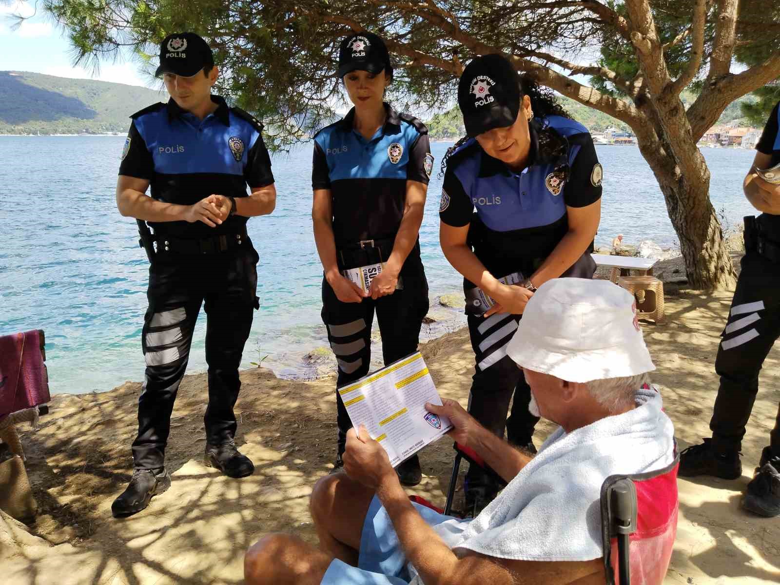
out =
{"type": "MultiPolygon", "coordinates": [[[[124,137],[0,137],[0,335],[42,328],[52,392],[108,390],[143,377],[140,332],[146,310],[147,259],[135,222],[116,211],[114,190],[124,137]]],[[[438,168],[448,143],[434,143],[438,168]]],[[[654,176],[636,147],[597,147],[605,168],[601,230],[608,245],[653,239],[674,246],[676,236],[654,176]]],[[[752,151],[705,149],[711,197],[726,223],[753,212],[742,195],[752,151]]],[[[258,295],[243,367],[264,366],[306,376],[303,355],[326,345],[320,321],[321,264],[311,232],[311,147],[273,159],[278,200],[273,215],[253,218],[249,232],[260,253],[258,295]]],[[[438,246],[441,181],[431,180],[420,229],[431,285],[431,307],[459,293],[461,278],[438,246]]],[[[424,326],[429,339],[465,322],[437,309],[440,322],[424,326]]],[[[203,371],[205,318],[201,314],[189,372],[203,371]]],[[[374,356],[381,352],[374,351],[374,356]]]]}

